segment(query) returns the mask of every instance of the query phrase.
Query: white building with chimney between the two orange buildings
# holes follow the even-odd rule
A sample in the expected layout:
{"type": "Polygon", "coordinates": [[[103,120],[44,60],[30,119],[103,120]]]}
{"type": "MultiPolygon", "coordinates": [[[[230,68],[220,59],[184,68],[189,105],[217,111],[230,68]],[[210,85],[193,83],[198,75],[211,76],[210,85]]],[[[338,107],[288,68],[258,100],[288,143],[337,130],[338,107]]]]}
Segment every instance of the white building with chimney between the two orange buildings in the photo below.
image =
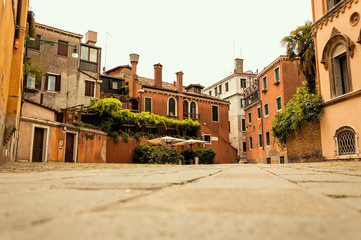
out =
{"type": "Polygon", "coordinates": [[[246,160],[244,89],[255,83],[257,75],[243,72],[243,59],[235,60],[234,74],[202,90],[203,94],[228,101],[229,140],[241,161],[246,160]]]}

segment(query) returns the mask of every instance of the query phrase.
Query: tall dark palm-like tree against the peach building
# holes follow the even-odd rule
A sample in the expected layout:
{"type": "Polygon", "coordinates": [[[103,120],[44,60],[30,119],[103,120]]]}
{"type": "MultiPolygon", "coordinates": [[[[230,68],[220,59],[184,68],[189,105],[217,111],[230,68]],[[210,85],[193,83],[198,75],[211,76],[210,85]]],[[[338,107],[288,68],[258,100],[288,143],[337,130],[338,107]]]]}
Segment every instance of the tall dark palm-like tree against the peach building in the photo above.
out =
{"type": "Polygon", "coordinates": [[[316,93],[315,45],[311,25],[310,21],[306,21],[305,25],[284,37],[281,45],[286,47],[287,57],[291,62],[295,59],[299,60],[298,70],[306,77],[308,92],[316,93]]]}

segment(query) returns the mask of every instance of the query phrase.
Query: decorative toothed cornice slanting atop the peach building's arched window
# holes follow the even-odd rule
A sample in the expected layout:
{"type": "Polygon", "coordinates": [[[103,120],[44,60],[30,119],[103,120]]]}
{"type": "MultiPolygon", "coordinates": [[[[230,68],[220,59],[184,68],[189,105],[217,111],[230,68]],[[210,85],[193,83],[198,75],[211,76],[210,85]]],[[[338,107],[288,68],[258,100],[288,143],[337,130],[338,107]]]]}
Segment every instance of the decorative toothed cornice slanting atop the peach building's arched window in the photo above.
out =
{"type": "Polygon", "coordinates": [[[352,3],[356,4],[359,0],[345,0],[340,2],[335,7],[331,8],[326,14],[312,24],[312,32],[316,33],[319,29],[327,26],[329,22],[332,22],[335,18],[338,18],[340,14],[345,13],[347,8],[352,7],[352,3]]]}

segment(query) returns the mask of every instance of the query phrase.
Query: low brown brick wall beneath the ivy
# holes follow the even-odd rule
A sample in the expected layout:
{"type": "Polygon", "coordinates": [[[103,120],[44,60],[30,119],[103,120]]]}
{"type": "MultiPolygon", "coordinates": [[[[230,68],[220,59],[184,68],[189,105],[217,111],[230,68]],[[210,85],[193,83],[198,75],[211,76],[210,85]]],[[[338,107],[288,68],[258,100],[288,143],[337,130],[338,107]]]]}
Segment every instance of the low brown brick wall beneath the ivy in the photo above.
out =
{"type": "Polygon", "coordinates": [[[287,135],[289,163],[322,161],[320,122],[308,122],[287,135]]]}

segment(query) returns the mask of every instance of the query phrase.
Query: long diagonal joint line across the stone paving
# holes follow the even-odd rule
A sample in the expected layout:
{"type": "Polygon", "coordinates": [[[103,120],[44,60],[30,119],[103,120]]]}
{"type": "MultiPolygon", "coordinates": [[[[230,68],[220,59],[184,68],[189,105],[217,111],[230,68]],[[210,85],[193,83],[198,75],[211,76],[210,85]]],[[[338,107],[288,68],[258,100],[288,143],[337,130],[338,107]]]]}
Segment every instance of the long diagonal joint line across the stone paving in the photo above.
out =
{"type": "MultiPolygon", "coordinates": [[[[231,169],[231,168],[234,168],[234,166],[232,167],[229,167],[229,168],[225,168],[225,169],[220,169],[214,173],[210,173],[208,175],[205,175],[205,176],[202,176],[202,177],[198,177],[198,178],[194,178],[194,179],[191,179],[191,180],[187,180],[187,181],[184,181],[184,182],[181,182],[181,183],[169,183],[167,184],[166,186],[162,186],[162,187],[159,187],[158,189],[155,189],[154,191],[147,191],[145,193],[142,193],[142,194],[139,194],[139,195],[136,195],[134,197],[130,197],[130,198],[126,198],[126,199],[121,199],[121,200],[118,200],[118,201],[115,201],[113,203],[109,203],[109,204],[106,204],[104,206],[99,206],[99,207],[95,207],[95,208],[89,208],[89,209],[84,209],[84,210],[80,210],[80,211],[76,211],[76,212],[70,212],[68,214],[64,214],[64,215],[58,215],[58,216],[54,216],[54,217],[48,217],[48,218],[43,218],[43,219],[38,219],[38,220],[35,220],[35,221],[32,221],[28,224],[25,224],[23,225],[22,227],[23,228],[30,228],[30,227],[33,227],[33,226],[38,226],[38,225],[42,225],[42,224],[46,224],[46,223],[49,223],[49,222],[52,222],[52,221],[56,221],[57,219],[62,219],[62,218],[65,218],[65,217],[69,217],[69,216],[77,216],[77,215],[81,215],[81,214],[85,214],[85,213],[91,213],[91,212],[102,212],[102,211],[105,211],[106,209],[108,208],[111,208],[113,206],[116,206],[118,204],[124,204],[124,203],[128,203],[130,201],[133,201],[133,200],[137,200],[137,199],[141,199],[141,198],[144,198],[144,197],[147,197],[147,196],[150,196],[150,195],[153,195],[153,194],[156,194],[158,193],[159,191],[162,191],[162,190],[165,190],[165,189],[169,189],[171,187],[180,187],[180,186],[184,186],[186,184],[189,184],[189,183],[193,183],[193,182],[196,182],[196,181],[199,181],[203,178],[207,178],[207,177],[211,177],[211,176],[214,176],[216,174],[219,174],[225,170],[228,170],[228,169],[231,169]]],[[[134,190],[134,189],[132,189],[134,190]]],[[[146,190],[145,190],[146,191],[146,190]]]]}

